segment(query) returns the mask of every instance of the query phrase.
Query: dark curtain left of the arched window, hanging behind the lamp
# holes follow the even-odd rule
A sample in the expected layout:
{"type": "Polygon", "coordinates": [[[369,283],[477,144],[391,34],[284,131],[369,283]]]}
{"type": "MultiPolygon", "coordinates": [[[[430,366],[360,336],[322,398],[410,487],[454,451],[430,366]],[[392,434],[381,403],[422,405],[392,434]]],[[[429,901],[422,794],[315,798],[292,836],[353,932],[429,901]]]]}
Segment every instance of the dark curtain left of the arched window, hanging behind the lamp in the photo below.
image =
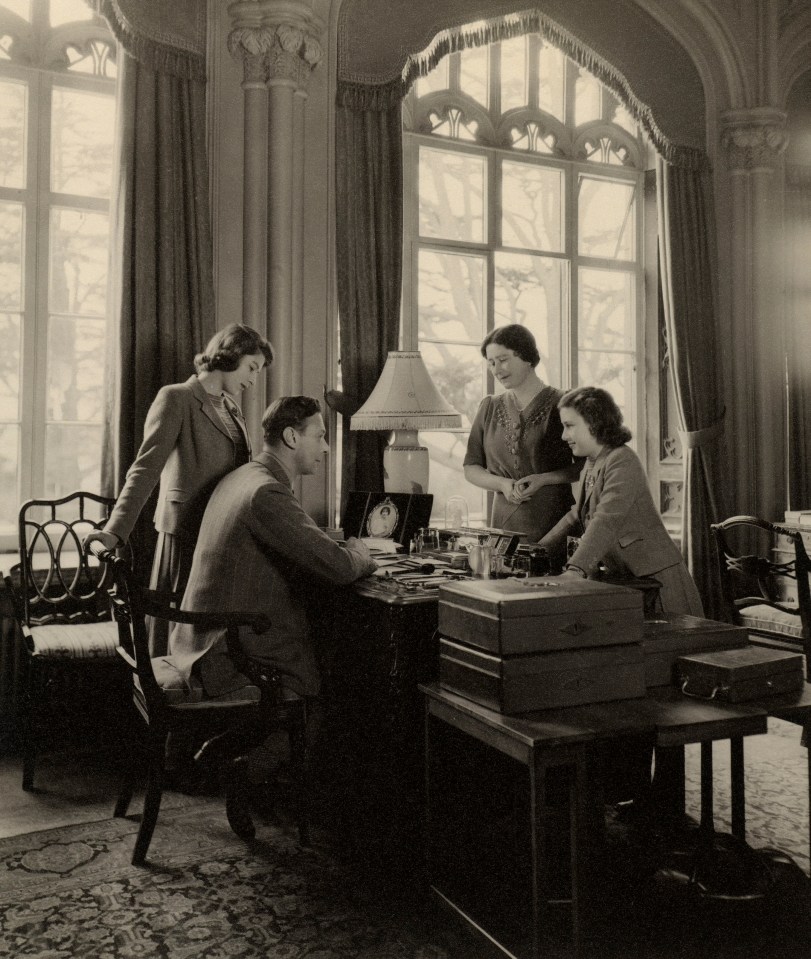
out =
{"type": "MultiPolygon", "coordinates": [[[[400,103],[339,100],[336,129],[336,247],[341,383],[348,412],[374,389],[397,348],[403,259],[400,103]]],[[[376,431],[352,432],[345,415],[341,490],[383,488],[376,431]]]]}

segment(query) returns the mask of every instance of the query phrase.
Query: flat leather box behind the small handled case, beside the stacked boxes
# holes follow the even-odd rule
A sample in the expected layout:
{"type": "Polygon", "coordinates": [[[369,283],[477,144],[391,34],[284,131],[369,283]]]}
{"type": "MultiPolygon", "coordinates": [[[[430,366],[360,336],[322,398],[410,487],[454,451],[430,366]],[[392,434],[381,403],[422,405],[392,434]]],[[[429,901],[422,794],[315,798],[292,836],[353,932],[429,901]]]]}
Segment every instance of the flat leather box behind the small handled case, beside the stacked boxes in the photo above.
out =
{"type": "Polygon", "coordinates": [[[680,656],[708,653],[716,649],[740,649],[749,645],[744,626],[732,626],[713,619],[687,614],[646,620],[642,627],[645,654],[645,684],[668,686],[678,679],[680,656]]]}

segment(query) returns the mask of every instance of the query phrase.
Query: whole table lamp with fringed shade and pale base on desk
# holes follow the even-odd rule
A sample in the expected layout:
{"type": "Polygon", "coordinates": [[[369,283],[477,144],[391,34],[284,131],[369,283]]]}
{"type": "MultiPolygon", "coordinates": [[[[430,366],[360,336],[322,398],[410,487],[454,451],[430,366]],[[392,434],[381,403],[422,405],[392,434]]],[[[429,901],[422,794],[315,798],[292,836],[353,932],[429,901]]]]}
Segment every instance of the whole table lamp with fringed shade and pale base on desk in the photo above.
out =
{"type": "Polygon", "coordinates": [[[418,430],[453,429],[462,417],[434,386],[418,351],[392,351],[369,399],[350,421],[353,430],[390,430],[383,453],[387,493],[428,492],[428,450],[418,430]]]}

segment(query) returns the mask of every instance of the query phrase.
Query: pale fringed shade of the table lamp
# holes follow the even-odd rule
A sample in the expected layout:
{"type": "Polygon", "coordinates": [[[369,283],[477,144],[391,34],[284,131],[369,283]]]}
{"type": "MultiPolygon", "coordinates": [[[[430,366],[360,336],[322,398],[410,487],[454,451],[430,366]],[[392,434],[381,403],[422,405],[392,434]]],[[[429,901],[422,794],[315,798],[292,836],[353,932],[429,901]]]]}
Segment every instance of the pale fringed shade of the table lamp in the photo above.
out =
{"type": "Polygon", "coordinates": [[[350,421],[353,430],[443,430],[462,417],[434,386],[419,351],[392,351],[369,399],[350,421]]]}

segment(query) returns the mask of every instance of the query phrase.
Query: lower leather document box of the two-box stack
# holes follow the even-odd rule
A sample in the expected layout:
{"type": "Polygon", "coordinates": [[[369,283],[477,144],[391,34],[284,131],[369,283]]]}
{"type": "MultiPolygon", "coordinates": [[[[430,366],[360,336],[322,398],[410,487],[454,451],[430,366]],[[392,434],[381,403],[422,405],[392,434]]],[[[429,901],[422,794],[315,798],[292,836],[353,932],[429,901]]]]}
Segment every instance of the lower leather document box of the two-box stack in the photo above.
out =
{"type": "Polygon", "coordinates": [[[497,656],[440,637],[439,682],[501,713],[532,712],[645,695],[640,643],[497,656]]]}

